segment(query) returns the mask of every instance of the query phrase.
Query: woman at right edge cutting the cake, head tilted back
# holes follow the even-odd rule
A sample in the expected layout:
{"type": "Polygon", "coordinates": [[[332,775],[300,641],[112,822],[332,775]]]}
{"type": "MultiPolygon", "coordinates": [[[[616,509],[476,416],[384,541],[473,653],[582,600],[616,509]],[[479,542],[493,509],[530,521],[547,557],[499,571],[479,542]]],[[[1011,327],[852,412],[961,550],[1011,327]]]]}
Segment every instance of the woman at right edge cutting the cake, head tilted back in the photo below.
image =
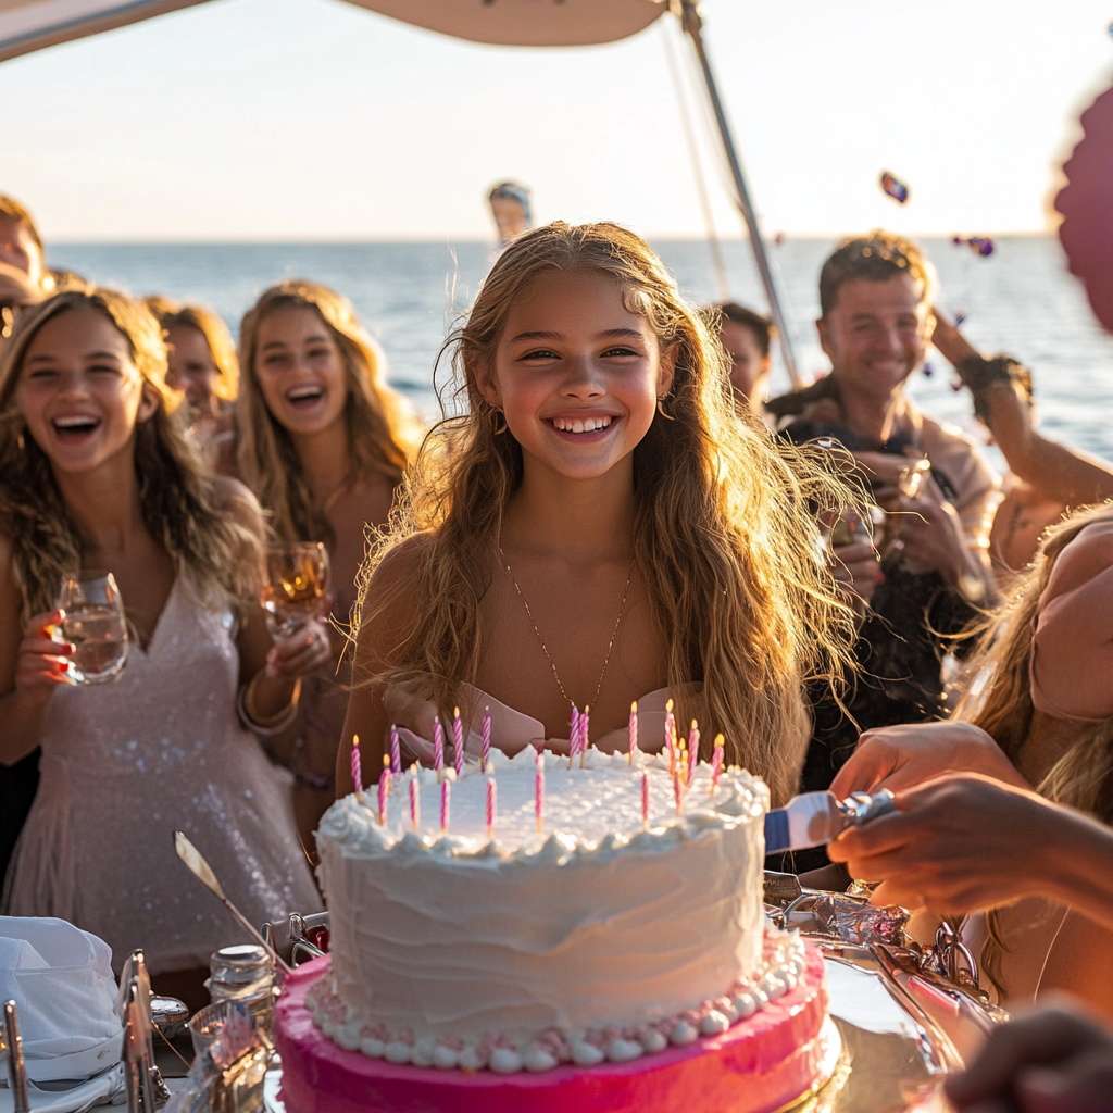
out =
{"type": "Polygon", "coordinates": [[[902,811],[830,856],[878,900],[984,913],[963,935],[1006,1004],[1068,989],[1113,1016],[1113,508],[1051,531],[972,673],[959,721],[863,736],[833,790],[902,811]]]}

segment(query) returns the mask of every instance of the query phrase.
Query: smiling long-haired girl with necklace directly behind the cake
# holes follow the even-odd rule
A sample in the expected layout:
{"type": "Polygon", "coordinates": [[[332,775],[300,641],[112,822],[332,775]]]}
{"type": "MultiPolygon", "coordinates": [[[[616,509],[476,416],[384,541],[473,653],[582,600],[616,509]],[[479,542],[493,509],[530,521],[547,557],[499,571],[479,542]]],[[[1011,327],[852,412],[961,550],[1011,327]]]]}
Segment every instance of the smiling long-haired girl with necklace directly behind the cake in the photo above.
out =
{"type": "MultiPolygon", "coordinates": [[[[846,659],[854,615],[816,559],[814,503],[851,498],[736,410],[725,355],[660,259],[613,224],[551,224],[500,256],[446,345],[462,416],[430,435],[368,560],[353,735],[396,723],[426,757],[460,707],[477,749],[568,750],[572,708],[624,747],[664,706],[792,795],[805,683],[846,659]]],[[[374,769],[376,760],[364,762],[374,769]]]]}

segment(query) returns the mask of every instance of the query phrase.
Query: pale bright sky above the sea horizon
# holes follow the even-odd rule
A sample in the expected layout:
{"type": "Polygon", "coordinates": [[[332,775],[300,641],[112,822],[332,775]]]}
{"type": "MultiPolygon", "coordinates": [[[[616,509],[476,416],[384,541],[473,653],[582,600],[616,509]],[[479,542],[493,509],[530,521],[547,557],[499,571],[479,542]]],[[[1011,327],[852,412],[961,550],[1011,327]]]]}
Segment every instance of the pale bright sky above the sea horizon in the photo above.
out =
{"type": "MultiPolygon", "coordinates": [[[[1053,227],[1077,117],[1113,81],[1109,0],[705,0],[768,233],[1053,227]],[[878,188],[906,181],[904,207],[878,188]]],[[[213,0],[0,63],[0,193],[56,242],[489,239],[539,220],[702,237],[740,221],[671,17],[620,43],[467,43],[342,0],[213,0]]]]}

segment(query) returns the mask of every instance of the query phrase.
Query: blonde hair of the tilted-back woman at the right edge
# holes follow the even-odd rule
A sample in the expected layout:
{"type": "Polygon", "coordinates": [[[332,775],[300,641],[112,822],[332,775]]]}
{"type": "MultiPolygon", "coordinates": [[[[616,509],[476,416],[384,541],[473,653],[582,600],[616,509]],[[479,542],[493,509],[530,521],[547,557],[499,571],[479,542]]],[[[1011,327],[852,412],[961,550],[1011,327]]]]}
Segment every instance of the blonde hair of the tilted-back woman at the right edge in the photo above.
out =
{"type": "MultiPolygon", "coordinates": [[[[1030,666],[1032,633],[1040,599],[1051,581],[1060,553],[1090,524],[1113,519],[1113,506],[1082,510],[1044,536],[1032,568],[1017,578],[1007,602],[982,633],[969,673],[976,690],[964,697],[955,717],[991,735],[1013,765],[1018,765],[1032,729],[1030,666]]],[[[1055,762],[1036,791],[1056,804],[1113,824],[1113,718],[1091,725],[1055,762]]],[[[987,914],[982,966],[1001,989],[1002,952],[1007,951],[995,910],[987,914]]]]}

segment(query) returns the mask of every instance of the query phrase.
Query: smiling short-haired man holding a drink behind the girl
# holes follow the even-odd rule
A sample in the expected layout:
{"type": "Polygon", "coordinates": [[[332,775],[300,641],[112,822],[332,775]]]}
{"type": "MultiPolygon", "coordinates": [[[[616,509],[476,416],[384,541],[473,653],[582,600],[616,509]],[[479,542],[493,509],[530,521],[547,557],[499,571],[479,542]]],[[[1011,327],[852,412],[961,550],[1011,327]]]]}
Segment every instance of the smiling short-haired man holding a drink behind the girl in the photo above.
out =
{"type": "MultiPolygon", "coordinates": [[[[863,730],[942,713],[946,636],[994,590],[986,554],[998,480],[968,437],[905,394],[932,336],[930,285],[907,240],[884,232],[845,240],[819,277],[830,375],[767,407],[787,439],[829,437],[855,453],[886,511],[879,551],[861,535],[843,543],[850,523],[831,523],[835,573],[864,611],[865,674],[850,701],[863,730]]],[[[826,788],[856,738],[853,723],[817,709],[806,787],[826,788]]]]}

